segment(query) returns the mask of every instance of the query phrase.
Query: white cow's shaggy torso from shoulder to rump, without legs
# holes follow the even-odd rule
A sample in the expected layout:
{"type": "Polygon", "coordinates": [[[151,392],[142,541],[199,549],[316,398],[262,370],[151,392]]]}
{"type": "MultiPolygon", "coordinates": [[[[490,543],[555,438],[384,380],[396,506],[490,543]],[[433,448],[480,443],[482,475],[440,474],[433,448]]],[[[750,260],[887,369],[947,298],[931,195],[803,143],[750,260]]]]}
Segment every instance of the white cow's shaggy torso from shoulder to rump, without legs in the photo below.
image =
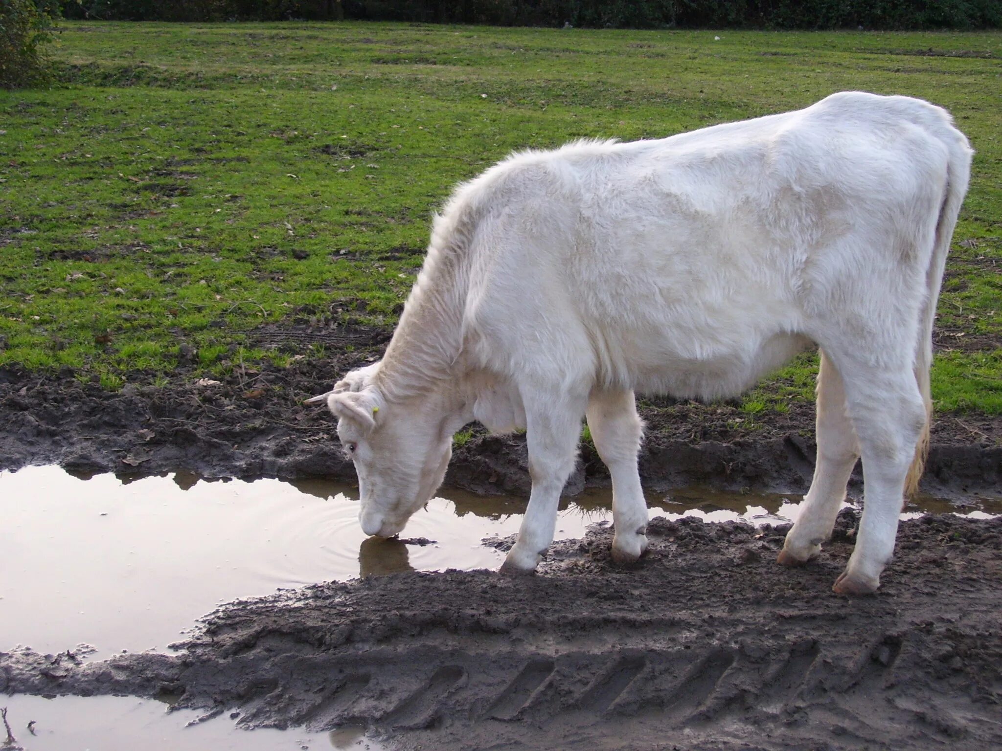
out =
{"type": "Polygon", "coordinates": [[[921,304],[958,138],[928,103],[850,92],[661,140],[517,155],[473,185],[469,328],[512,368],[539,358],[535,341],[605,383],[739,392],[835,307],[868,299],[875,277],[921,304]]]}

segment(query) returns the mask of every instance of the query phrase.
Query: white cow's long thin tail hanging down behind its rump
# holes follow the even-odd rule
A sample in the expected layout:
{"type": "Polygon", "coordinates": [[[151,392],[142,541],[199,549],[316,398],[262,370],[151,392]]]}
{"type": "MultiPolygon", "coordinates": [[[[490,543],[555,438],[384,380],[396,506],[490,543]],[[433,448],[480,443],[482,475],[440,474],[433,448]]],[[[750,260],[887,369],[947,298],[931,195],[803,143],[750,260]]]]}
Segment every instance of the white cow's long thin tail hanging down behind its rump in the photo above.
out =
{"type": "Polygon", "coordinates": [[[929,429],[932,422],[933,400],[929,386],[929,371],[933,362],[933,322],[936,319],[936,303],[939,300],[940,285],[946,267],[946,256],[950,250],[950,239],[957,224],[960,204],[967,193],[967,183],[971,174],[971,155],[974,153],[963,133],[954,127],[945,128],[945,140],[950,157],[947,165],[946,190],[936,224],[936,239],[932,259],[926,271],[926,302],[922,309],[919,338],[915,347],[915,380],[922,393],[926,407],[926,421],[915,449],[915,458],[905,480],[905,497],[910,498],[919,489],[919,481],[929,455],[929,429]]]}

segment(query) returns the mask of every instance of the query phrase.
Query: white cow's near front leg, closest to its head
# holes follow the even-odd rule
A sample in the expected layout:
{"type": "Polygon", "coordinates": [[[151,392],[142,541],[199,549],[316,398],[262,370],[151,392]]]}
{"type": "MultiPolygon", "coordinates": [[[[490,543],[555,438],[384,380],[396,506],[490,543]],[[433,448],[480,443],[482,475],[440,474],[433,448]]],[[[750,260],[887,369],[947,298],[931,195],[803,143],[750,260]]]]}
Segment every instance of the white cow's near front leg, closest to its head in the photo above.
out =
{"type": "Polygon", "coordinates": [[[557,504],[574,469],[586,398],[536,391],[525,403],[532,493],[518,540],[501,566],[504,574],[531,574],[553,542],[557,504]]]}

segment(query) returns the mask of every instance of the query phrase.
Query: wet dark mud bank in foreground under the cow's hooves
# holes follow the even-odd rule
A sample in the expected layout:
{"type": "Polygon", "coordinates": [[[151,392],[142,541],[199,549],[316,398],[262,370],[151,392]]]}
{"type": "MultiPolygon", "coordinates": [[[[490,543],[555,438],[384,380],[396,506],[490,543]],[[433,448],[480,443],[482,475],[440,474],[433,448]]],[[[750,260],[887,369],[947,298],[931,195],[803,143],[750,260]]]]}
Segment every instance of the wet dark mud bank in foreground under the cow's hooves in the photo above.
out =
{"type": "Polygon", "coordinates": [[[533,577],[400,574],[235,602],[176,655],[0,653],[0,691],[170,698],[401,748],[998,748],[1002,520],[904,522],[880,593],[847,600],[830,587],[857,523],[843,511],[802,569],[775,564],[783,526],[654,520],[628,570],[592,528],[533,577]]]}

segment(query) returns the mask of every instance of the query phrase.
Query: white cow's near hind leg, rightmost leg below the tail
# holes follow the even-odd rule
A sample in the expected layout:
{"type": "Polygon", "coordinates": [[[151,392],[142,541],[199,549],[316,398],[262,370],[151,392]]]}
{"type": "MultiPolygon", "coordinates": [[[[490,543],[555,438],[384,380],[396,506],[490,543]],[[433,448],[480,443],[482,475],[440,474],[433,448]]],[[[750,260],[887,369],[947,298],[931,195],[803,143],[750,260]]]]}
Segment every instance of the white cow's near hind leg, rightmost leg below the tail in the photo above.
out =
{"type": "Polygon", "coordinates": [[[874,356],[872,349],[829,353],[845,383],[863,454],[864,483],[856,547],[833,589],[863,595],[880,586],[881,572],[894,554],[905,480],[925,428],[926,408],[910,355],[874,356]]]}

